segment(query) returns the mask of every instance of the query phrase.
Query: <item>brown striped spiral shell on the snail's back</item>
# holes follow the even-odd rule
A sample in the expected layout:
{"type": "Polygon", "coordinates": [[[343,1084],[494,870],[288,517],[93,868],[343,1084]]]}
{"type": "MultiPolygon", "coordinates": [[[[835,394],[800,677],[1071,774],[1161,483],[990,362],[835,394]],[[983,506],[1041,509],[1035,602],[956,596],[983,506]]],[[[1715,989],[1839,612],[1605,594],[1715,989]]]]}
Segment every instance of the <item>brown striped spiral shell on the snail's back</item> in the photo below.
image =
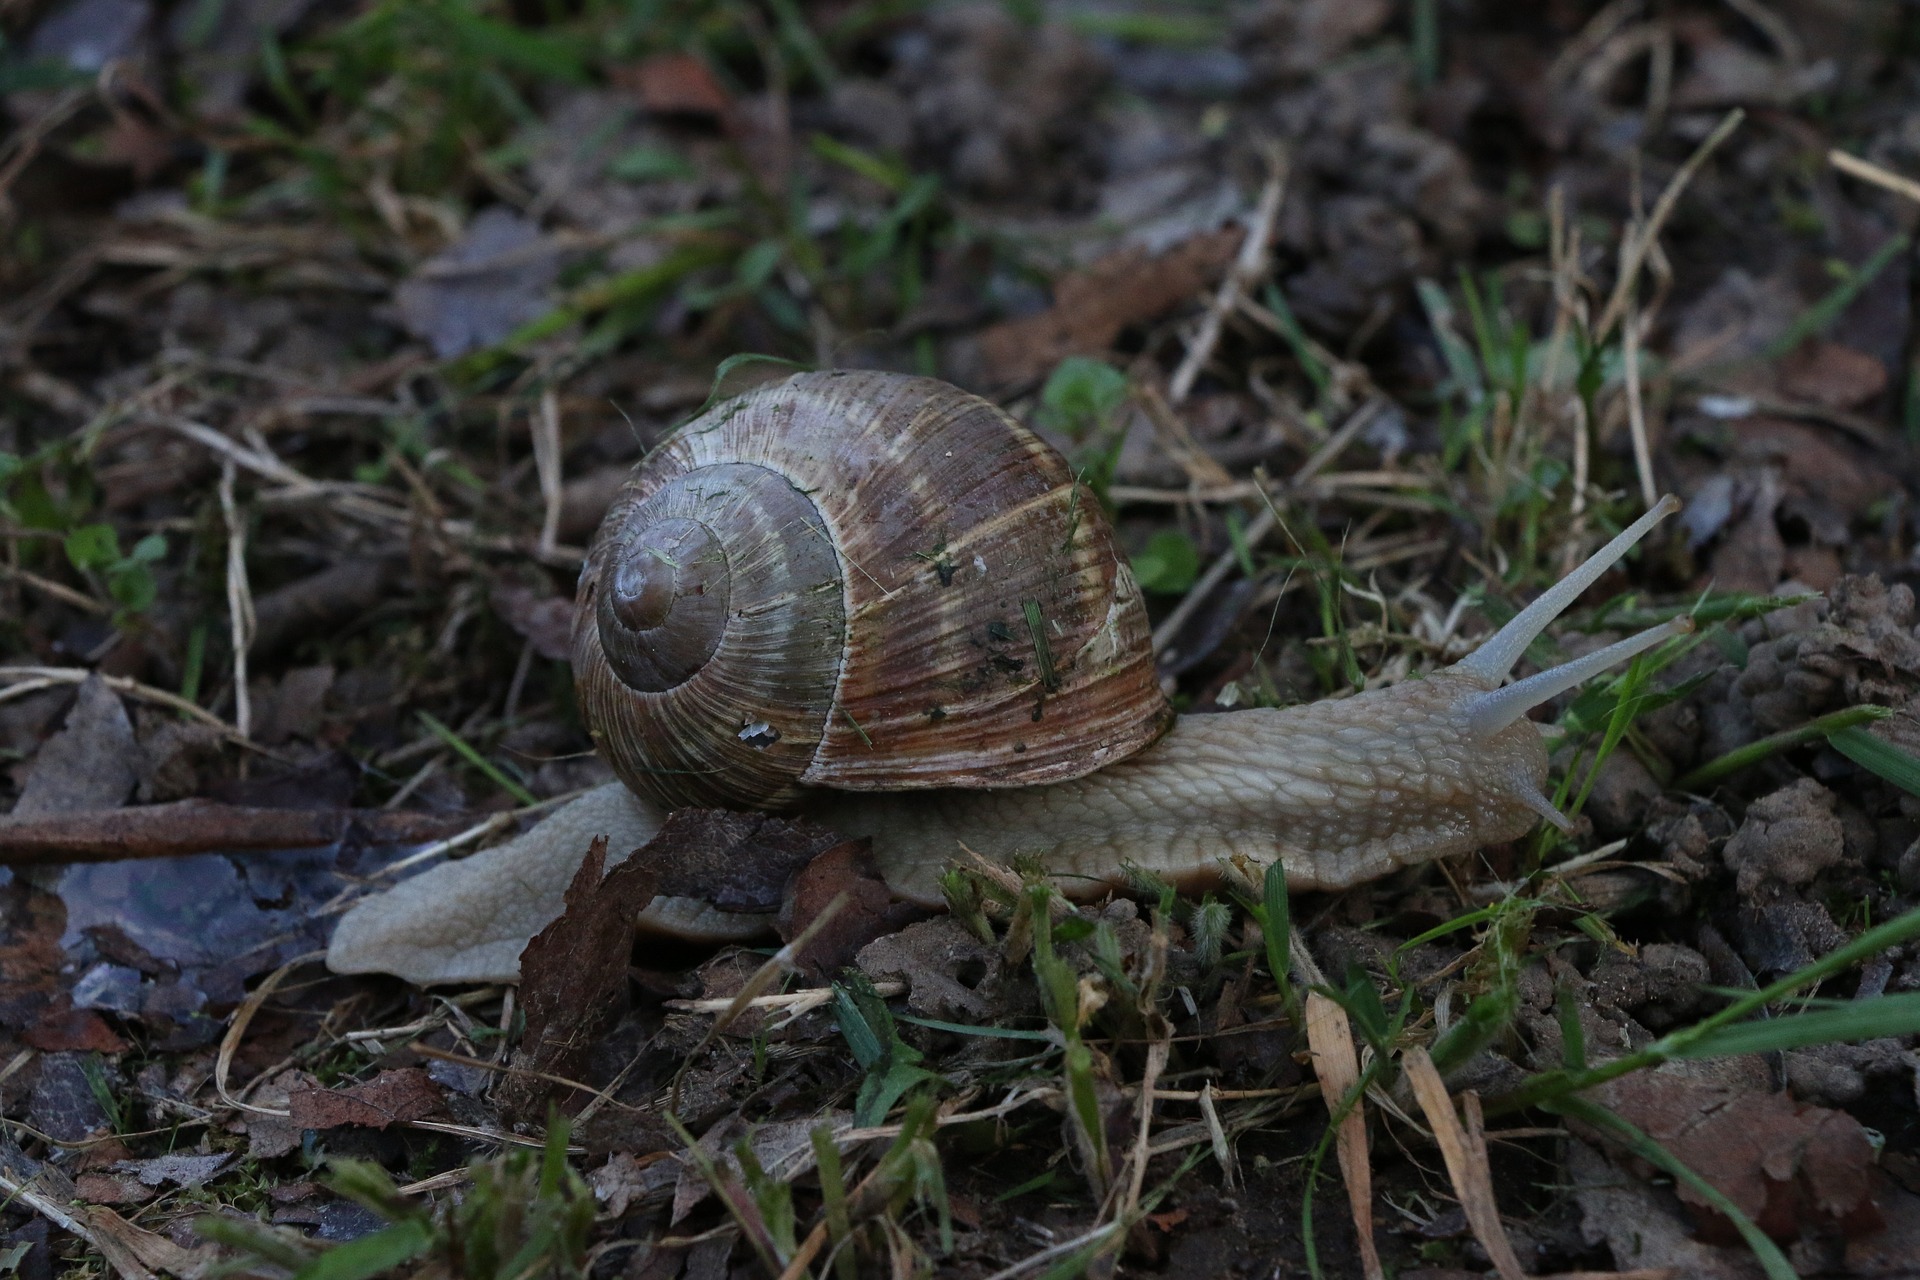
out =
{"type": "Polygon", "coordinates": [[[588,727],[664,806],[1050,783],[1173,716],[1094,497],[931,378],[799,374],[687,422],[614,499],[578,601],[588,727]]]}

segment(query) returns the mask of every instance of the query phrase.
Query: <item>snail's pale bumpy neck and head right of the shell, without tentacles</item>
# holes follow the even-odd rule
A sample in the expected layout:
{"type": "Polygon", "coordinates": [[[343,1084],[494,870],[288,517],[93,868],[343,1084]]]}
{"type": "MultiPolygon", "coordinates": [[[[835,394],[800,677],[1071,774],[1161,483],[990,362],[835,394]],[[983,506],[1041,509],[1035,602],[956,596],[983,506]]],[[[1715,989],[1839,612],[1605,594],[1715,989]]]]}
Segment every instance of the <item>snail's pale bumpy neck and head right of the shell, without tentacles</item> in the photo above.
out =
{"type": "Polygon", "coordinates": [[[1346,889],[1540,821],[1546,745],[1524,720],[1476,739],[1459,708],[1484,691],[1444,670],[1336,702],[1187,716],[1068,783],[841,794],[808,812],[872,837],[887,885],[925,906],[962,846],[1035,854],[1077,898],[1121,885],[1129,862],[1187,889],[1235,856],[1279,860],[1294,889],[1346,889]]]}

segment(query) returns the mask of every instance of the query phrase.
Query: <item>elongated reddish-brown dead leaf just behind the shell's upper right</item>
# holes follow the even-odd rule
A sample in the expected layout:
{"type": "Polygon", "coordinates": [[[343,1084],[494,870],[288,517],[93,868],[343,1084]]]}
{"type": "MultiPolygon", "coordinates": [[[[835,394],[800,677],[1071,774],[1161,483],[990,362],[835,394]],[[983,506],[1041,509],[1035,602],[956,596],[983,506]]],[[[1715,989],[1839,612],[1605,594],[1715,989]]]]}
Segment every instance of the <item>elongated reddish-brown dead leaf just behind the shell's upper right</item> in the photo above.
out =
{"type": "Polygon", "coordinates": [[[1121,330],[1194,297],[1240,249],[1236,226],[1185,240],[1165,253],[1144,248],[1108,253],[1054,284],[1054,305],[995,324],[979,336],[981,382],[1021,386],[1069,355],[1098,355],[1121,330]]]}

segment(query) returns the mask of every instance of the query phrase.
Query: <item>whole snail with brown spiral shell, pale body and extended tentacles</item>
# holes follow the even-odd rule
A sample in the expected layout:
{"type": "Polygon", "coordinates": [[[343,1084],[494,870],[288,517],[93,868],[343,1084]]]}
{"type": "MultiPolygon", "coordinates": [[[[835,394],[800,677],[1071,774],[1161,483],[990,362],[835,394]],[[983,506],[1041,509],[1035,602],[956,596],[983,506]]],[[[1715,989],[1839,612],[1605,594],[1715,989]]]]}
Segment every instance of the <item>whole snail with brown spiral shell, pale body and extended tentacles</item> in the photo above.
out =
{"type": "MultiPolygon", "coordinates": [[[[1651,628],[1503,685],[1663,499],[1473,654],[1386,689],[1175,720],[1140,591],[1091,493],[985,399],[810,372],[682,426],[580,574],[580,710],[620,783],[361,900],[328,963],[499,981],[593,835],[624,856],[676,806],[797,808],[937,906],[962,844],[1037,854],[1066,892],[1125,864],[1179,885],[1279,860],[1296,889],[1567,825],[1526,710],[1692,629],[1651,628]]],[[[745,938],[768,917],[657,900],[641,927],[745,938]]]]}

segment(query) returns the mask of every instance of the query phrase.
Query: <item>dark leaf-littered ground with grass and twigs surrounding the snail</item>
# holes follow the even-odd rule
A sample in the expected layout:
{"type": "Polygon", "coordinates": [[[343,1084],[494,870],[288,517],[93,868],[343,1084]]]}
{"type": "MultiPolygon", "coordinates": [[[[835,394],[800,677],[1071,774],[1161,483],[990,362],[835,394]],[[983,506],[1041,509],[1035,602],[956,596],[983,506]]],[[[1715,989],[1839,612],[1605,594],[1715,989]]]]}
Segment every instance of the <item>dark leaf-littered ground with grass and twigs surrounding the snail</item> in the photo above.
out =
{"type": "Polygon", "coordinates": [[[1584,1092],[1653,1146],[1507,1109],[1916,906],[1891,10],[228,8],[10,19],[0,1257],[188,1274],[211,1213],[282,1270],[1910,1268],[1910,938],[1720,1075],[1584,1092]],[[572,557],[735,351],[1071,441],[1192,712],[1457,656],[1655,480],[1686,533],[1586,626],[1713,626],[1555,708],[1569,794],[1607,756],[1572,844],[1290,910],[960,867],[916,919],[831,831],[676,816],[516,992],[303,965],[388,864],[605,779],[572,557]],[[636,948],[651,892],[787,946],[636,948]]]}

